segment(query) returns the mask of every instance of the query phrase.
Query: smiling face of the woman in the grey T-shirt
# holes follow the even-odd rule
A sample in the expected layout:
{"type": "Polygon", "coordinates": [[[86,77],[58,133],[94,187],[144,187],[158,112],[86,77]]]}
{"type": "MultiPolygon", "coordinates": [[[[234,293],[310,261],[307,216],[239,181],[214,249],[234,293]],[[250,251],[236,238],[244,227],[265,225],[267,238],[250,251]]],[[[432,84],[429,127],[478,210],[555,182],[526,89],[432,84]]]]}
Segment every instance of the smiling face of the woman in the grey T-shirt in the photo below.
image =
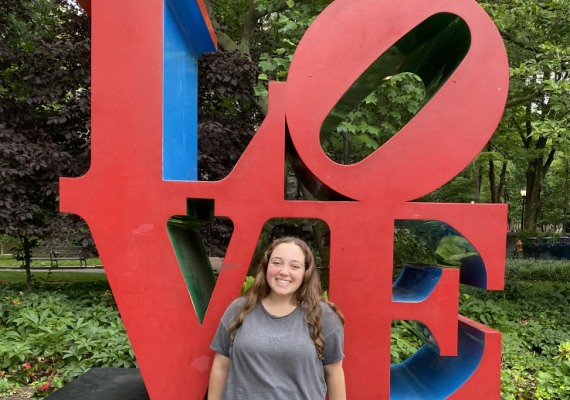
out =
{"type": "Polygon", "coordinates": [[[281,243],[273,249],[267,265],[267,284],[271,294],[291,297],[301,287],[305,274],[305,255],[294,243],[281,243]]]}

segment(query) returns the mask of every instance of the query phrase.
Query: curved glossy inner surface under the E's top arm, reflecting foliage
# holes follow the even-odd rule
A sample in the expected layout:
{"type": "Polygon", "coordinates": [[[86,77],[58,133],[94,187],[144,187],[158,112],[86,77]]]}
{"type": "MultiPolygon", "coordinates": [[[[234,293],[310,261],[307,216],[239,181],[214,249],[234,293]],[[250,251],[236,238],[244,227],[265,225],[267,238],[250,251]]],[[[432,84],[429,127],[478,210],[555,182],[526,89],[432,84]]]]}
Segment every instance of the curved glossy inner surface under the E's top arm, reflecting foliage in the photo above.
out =
{"type": "Polygon", "coordinates": [[[396,220],[398,228],[413,232],[433,252],[437,265],[460,267],[459,281],[464,285],[487,289],[487,270],[483,259],[450,225],[442,221],[396,220]]]}

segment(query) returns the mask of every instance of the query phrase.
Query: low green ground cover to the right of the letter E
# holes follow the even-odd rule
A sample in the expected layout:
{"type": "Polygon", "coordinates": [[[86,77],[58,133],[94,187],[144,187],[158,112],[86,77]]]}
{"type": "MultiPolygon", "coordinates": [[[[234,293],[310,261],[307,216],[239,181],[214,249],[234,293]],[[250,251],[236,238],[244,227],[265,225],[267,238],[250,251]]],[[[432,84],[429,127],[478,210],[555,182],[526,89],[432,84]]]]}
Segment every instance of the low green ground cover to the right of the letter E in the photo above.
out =
{"type": "Polygon", "coordinates": [[[570,288],[518,283],[509,275],[513,265],[507,264],[504,292],[462,287],[459,312],[502,332],[505,399],[567,400],[570,288]]]}

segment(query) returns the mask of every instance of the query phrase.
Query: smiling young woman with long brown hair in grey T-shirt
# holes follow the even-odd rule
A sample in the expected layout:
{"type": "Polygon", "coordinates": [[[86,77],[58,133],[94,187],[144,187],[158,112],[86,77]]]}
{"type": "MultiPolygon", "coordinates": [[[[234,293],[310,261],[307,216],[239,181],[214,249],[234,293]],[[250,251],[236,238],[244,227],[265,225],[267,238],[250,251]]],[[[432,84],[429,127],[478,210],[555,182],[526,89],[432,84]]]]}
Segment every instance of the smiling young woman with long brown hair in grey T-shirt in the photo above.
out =
{"type": "Polygon", "coordinates": [[[275,240],[220,321],[208,400],[346,399],[343,325],[322,296],[309,246],[275,240]]]}

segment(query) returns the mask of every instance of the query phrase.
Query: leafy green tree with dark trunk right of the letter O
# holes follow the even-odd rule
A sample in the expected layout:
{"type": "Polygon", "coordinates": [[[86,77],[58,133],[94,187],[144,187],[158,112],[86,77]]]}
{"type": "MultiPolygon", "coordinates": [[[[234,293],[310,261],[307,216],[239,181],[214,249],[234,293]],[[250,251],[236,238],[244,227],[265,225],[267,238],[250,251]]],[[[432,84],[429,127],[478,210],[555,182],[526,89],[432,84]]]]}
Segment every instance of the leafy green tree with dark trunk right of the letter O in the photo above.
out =
{"type": "Polygon", "coordinates": [[[523,150],[519,156],[526,161],[524,228],[530,229],[538,222],[546,175],[569,140],[570,2],[481,4],[497,24],[509,54],[509,100],[499,130],[516,133],[523,150]]]}

